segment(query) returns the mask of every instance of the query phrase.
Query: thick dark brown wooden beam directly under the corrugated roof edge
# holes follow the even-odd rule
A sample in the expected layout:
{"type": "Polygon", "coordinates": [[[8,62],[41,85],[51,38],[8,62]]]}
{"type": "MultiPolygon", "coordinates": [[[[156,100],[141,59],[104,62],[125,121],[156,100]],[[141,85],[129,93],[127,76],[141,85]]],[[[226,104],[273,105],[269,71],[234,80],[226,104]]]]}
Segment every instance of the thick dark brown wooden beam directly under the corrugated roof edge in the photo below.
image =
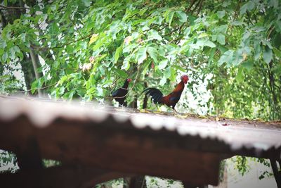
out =
{"type": "Polygon", "coordinates": [[[24,116],[13,125],[4,123],[1,127],[3,132],[14,132],[13,137],[0,132],[1,149],[20,149],[22,143],[34,134],[41,156],[62,161],[63,164],[154,175],[194,184],[218,184],[221,156],[218,153],[181,149],[177,145],[184,146],[186,142],[183,140],[181,143],[181,139],[176,141],[176,134],[159,132],[155,137],[147,130],[124,127],[112,127],[108,131],[106,125],[61,119],[39,129],[30,126],[24,116]]]}

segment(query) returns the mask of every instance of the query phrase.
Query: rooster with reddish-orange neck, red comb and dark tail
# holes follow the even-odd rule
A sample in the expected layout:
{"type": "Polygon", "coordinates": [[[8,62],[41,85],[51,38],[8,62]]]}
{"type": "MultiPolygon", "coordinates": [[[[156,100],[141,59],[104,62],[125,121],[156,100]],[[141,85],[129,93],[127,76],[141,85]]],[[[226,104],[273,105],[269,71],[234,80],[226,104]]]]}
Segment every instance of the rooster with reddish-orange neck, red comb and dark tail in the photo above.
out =
{"type": "Polygon", "coordinates": [[[165,104],[166,106],[171,107],[174,111],[175,106],[178,103],[179,99],[181,98],[181,93],[185,87],[185,84],[188,83],[188,75],[181,76],[181,82],[176,85],[176,88],[173,92],[164,96],[164,94],[156,88],[150,87],[143,90],[145,95],[150,96],[154,104],[165,104]]]}

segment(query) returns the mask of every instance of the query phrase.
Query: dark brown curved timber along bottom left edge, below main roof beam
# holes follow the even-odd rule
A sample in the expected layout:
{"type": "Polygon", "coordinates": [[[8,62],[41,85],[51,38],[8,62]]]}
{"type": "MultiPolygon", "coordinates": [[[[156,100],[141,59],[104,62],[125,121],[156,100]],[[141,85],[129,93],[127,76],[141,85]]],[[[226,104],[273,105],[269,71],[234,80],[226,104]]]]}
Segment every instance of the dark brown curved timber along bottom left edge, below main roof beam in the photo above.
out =
{"type": "Polygon", "coordinates": [[[41,170],[19,170],[17,173],[0,173],[1,187],[88,188],[95,184],[130,174],[85,167],[57,166],[41,170]]]}

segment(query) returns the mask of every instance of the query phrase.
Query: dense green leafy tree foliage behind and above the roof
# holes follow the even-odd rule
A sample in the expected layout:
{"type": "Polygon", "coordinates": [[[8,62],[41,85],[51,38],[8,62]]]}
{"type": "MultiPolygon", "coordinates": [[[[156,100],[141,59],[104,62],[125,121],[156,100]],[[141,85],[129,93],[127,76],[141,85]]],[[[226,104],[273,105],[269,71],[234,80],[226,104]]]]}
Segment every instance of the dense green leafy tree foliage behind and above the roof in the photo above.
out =
{"type": "Polygon", "coordinates": [[[280,119],[280,7],[278,0],[4,1],[0,90],[100,100],[131,77],[128,101],[142,103],[145,84],[168,93],[185,73],[195,99],[207,82],[211,97],[199,104],[209,114],[280,119]],[[18,67],[25,87],[7,73],[18,67]]]}

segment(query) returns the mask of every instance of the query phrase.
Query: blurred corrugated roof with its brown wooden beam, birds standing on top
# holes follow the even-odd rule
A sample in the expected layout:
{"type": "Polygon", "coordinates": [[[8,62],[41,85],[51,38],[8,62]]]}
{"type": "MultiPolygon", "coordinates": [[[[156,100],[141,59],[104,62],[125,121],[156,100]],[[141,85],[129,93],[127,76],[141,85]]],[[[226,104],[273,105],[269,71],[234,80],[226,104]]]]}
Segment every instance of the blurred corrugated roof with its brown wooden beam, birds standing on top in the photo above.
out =
{"type": "Polygon", "coordinates": [[[22,170],[29,170],[25,164],[38,170],[39,163],[29,158],[42,157],[190,184],[217,184],[219,163],[228,156],[280,160],[278,123],[220,123],[95,108],[0,96],[0,149],[17,153],[22,170]]]}

